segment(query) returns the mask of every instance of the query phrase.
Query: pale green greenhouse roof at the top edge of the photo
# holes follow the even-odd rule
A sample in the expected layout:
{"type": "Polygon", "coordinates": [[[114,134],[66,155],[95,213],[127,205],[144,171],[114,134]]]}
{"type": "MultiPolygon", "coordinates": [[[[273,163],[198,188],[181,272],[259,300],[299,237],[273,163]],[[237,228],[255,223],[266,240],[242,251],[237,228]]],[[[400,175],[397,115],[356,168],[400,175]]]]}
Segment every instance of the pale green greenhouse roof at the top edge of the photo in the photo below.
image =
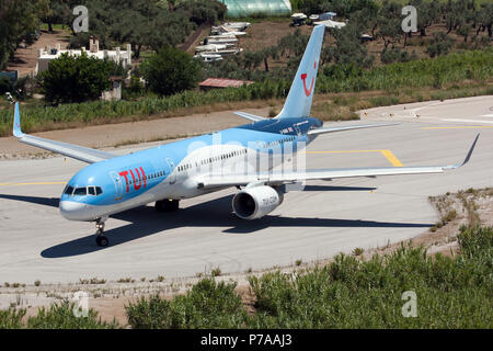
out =
{"type": "Polygon", "coordinates": [[[228,8],[229,18],[252,15],[288,15],[291,13],[289,0],[220,0],[228,8]]]}

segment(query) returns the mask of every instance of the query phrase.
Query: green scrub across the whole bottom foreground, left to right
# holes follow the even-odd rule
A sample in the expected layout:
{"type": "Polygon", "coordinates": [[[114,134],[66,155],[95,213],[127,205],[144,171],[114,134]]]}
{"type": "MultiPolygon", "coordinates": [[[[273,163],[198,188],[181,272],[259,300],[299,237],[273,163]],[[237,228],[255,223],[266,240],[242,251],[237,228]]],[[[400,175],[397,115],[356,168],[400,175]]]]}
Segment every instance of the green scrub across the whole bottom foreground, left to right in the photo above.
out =
{"type": "MultiPolygon", "coordinates": [[[[465,192],[466,193],[466,192],[465,192]]],[[[334,261],[297,272],[250,276],[253,305],[234,282],[206,278],[171,299],[159,295],[130,302],[131,328],[493,328],[493,227],[462,227],[459,253],[427,256],[402,245],[370,259],[339,254],[334,261]],[[416,317],[402,314],[404,293],[416,295],[416,317]]],[[[362,250],[363,251],[363,250],[362,250]]],[[[363,252],[362,252],[363,253],[363,252]]],[[[93,309],[77,318],[73,304],[0,310],[0,328],[121,328],[93,309]]]]}

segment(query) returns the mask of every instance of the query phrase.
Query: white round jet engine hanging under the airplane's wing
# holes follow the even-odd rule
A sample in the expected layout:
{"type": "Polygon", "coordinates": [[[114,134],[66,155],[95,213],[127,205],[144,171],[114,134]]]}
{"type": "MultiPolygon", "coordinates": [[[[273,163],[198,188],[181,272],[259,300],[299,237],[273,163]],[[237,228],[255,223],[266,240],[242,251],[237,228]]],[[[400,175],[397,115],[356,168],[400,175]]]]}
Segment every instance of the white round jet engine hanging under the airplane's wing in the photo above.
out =
{"type": "Polygon", "coordinates": [[[234,214],[242,219],[256,219],[273,212],[283,203],[280,191],[267,185],[245,188],[232,200],[234,214]]]}

